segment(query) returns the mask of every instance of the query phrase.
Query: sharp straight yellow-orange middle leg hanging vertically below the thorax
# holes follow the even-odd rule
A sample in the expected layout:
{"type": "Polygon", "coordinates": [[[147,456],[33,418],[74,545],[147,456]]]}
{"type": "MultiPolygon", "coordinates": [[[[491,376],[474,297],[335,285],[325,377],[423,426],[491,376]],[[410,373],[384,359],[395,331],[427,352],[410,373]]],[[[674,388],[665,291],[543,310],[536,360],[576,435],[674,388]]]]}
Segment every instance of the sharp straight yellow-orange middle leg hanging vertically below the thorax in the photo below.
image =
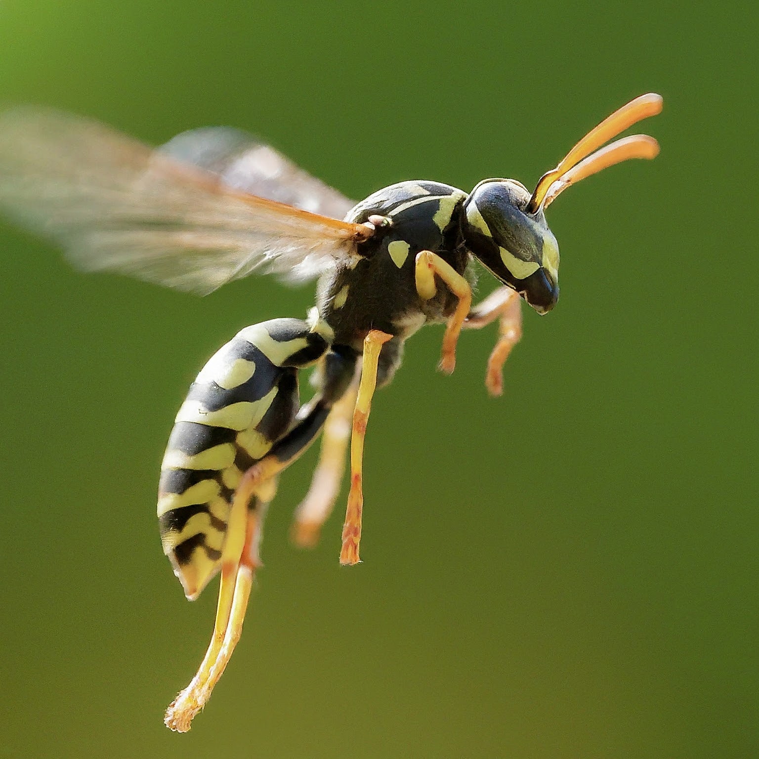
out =
{"type": "Polygon", "coordinates": [[[377,361],[382,346],[392,339],[392,335],[372,329],[364,339],[364,360],[361,364],[361,384],[358,387],[356,407],[353,412],[353,435],[351,436],[351,492],[348,493],[348,508],[345,509],[345,524],[342,528],[342,565],[357,564],[358,546],[361,543],[361,512],[364,509],[364,494],[361,490],[361,468],[364,461],[364,436],[372,405],[372,395],[377,381],[377,361]]]}

